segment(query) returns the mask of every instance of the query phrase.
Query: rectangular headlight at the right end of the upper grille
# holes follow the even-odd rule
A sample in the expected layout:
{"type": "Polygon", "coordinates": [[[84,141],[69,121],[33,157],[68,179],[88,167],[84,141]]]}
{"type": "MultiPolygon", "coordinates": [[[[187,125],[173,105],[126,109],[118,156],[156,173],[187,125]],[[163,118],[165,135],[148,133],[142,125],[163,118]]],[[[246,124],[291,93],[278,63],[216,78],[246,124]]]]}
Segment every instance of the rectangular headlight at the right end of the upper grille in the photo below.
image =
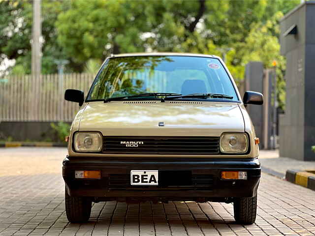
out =
{"type": "Polygon", "coordinates": [[[245,153],[248,150],[248,137],[245,133],[223,133],[220,137],[220,150],[223,153],[245,153]]]}

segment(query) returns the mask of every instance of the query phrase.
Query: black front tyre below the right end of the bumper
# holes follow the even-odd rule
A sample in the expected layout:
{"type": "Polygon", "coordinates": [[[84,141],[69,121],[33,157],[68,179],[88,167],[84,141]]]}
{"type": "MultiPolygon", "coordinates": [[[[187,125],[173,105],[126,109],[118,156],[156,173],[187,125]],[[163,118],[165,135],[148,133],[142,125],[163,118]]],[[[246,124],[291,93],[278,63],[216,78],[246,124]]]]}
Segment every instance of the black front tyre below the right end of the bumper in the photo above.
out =
{"type": "Polygon", "coordinates": [[[233,202],[234,219],[237,223],[251,225],[256,220],[257,195],[249,198],[237,198],[233,202]]]}

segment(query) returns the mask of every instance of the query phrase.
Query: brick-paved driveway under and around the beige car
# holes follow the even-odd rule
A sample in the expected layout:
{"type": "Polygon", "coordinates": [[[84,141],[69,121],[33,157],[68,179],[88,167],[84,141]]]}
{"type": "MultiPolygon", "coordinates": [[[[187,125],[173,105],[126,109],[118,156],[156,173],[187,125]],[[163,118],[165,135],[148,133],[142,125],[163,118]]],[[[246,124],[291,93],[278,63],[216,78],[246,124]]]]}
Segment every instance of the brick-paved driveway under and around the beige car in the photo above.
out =
{"type": "Polygon", "coordinates": [[[70,224],[60,175],[63,153],[63,148],[0,149],[0,236],[315,234],[315,192],[266,174],[259,187],[256,223],[250,226],[234,223],[232,204],[194,202],[98,203],[89,223],[70,224]],[[42,160],[36,162],[38,158],[42,160]]]}

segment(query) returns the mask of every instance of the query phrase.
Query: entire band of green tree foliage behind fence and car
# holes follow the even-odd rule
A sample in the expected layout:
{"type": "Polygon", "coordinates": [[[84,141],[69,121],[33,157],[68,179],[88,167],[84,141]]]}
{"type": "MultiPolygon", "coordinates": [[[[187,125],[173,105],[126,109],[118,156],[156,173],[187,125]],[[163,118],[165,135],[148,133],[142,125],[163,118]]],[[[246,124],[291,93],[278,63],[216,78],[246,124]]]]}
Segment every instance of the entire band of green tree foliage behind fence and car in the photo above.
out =
{"type": "MultiPolygon", "coordinates": [[[[114,53],[170,51],[226,56],[234,79],[250,60],[278,61],[284,87],[279,19],[299,0],[42,1],[42,73],[95,70],[114,53]]],[[[32,2],[0,0],[0,57],[11,73],[30,73],[32,2]]],[[[279,95],[281,98],[282,95],[279,95]]]]}

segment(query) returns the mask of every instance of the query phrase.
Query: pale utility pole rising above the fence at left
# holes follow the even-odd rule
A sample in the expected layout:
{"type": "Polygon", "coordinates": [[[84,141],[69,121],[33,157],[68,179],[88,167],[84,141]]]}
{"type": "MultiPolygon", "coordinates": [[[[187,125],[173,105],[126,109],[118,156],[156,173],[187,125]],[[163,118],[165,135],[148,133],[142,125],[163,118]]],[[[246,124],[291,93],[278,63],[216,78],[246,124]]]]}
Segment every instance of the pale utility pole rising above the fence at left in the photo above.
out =
{"type": "Polygon", "coordinates": [[[33,0],[32,75],[41,73],[41,0],[33,0]]]}

